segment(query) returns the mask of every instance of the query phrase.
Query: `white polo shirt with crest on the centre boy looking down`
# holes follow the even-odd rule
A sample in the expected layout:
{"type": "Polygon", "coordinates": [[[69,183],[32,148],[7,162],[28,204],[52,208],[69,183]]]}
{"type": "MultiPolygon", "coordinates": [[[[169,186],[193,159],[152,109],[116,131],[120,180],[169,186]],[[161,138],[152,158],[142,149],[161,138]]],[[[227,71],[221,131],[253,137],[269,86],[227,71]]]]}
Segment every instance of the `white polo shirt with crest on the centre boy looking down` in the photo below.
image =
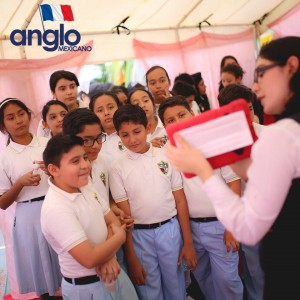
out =
{"type": "Polygon", "coordinates": [[[116,202],[129,201],[136,224],[151,224],[177,214],[173,191],[182,189],[179,172],[162,148],[144,154],[127,150],[109,170],[109,183],[116,202]]]}

